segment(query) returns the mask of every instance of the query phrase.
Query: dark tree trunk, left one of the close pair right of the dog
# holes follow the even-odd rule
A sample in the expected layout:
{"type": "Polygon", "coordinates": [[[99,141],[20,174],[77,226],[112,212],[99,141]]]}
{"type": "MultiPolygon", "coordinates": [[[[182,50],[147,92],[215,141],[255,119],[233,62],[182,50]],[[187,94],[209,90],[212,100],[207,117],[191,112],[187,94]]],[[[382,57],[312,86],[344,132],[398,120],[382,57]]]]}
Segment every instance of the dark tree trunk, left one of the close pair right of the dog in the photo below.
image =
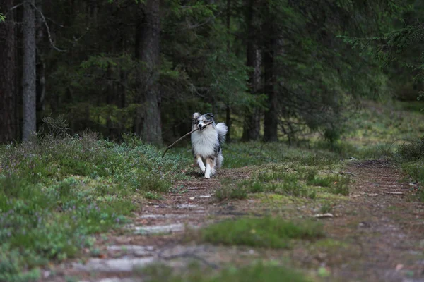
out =
{"type": "MultiPolygon", "coordinates": [[[[249,88],[252,94],[257,94],[261,84],[261,54],[257,46],[257,30],[254,28],[254,0],[247,1],[247,66],[253,68],[249,75],[249,88]]],[[[251,111],[245,114],[243,125],[243,141],[259,140],[261,129],[261,109],[254,106],[251,111]]]]}

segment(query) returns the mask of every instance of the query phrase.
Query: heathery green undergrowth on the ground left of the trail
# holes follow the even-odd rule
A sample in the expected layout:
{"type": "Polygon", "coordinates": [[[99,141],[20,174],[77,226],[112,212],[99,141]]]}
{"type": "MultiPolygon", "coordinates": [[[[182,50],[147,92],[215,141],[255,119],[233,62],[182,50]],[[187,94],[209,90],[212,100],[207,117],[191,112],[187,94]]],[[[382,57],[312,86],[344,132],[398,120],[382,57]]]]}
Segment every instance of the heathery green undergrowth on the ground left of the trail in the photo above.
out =
{"type": "Polygon", "coordinates": [[[93,234],[128,221],[134,198],[158,200],[187,178],[189,160],[127,141],[87,133],[0,147],[0,281],[77,256],[93,246],[93,234]]]}

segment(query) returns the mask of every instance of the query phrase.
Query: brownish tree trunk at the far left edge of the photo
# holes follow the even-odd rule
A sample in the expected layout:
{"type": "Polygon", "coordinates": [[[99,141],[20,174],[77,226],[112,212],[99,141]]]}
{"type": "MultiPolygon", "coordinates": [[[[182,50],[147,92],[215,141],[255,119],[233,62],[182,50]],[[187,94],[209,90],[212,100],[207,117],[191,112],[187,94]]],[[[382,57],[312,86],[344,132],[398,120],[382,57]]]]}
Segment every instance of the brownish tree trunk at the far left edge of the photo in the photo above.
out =
{"type": "MultiPolygon", "coordinates": [[[[2,11],[8,11],[13,0],[0,0],[2,11]]],[[[0,144],[16,139],[16,12],[10,11],[0,23],[0,144]]]]}

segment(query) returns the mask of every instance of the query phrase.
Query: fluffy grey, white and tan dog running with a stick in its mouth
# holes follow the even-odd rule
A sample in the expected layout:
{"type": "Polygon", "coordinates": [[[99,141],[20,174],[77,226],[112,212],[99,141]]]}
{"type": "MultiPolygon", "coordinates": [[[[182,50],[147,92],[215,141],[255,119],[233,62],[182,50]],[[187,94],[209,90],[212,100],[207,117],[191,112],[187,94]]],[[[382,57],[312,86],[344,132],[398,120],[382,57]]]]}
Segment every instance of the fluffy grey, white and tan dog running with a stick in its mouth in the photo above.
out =
{"type": "Polygon", "coordinates": [[[216,173],[216,169],[222,166],[224,157],[221,145],[225,142],[225,135],[228,132],[227,125],[215,124],[213,117],[211,113],[203,115],[194,113],[192,116],[192,129],[199,129],[192,133],[194,162],[205,173],[205,178],[211,178],[216,173]],[[211,124],[207,125],[208,123],[211,124]]]}

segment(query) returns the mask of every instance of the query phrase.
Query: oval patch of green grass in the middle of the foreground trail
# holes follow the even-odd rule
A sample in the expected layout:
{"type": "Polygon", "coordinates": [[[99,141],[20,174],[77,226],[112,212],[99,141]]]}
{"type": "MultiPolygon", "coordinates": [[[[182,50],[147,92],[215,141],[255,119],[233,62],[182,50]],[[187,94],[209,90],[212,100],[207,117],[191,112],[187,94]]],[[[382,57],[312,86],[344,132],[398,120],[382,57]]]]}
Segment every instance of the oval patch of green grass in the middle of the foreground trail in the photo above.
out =
{"type": "Polygon", "coordinates": [[[317,222],[285,221],[270,216],[222,221],[201,231],[201,240],[208,243],[275,248],[289,247],[291,239],[314,239],[322,236],[324,231],[317,222]]]}

